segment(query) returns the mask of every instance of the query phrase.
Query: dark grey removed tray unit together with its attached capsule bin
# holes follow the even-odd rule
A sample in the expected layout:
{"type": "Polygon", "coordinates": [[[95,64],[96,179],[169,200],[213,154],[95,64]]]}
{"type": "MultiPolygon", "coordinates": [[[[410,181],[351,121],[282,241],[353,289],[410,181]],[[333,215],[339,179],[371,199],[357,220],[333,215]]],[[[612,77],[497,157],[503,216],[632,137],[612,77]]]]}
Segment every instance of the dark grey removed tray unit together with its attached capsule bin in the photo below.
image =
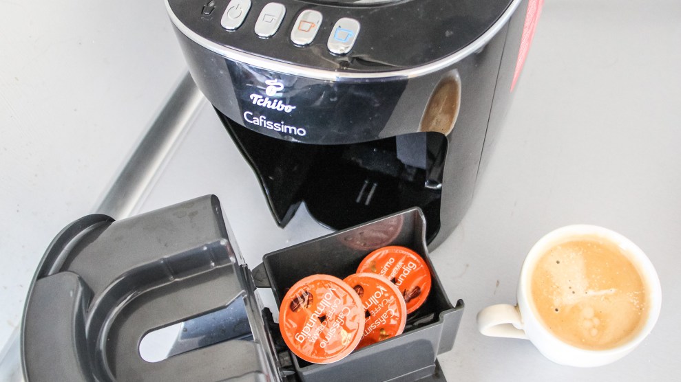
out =
{"type": "Polygon", "coordinates": [[[121,221],[85,216],[56,236],[30,288],[21,332],[29,381],[415,381],[444,377],[437,355],[454,344],[463,301],[450,304],[428,258],[418,208],[263,257],[252,273],[216,196],[121,221]],[[402,245],[428,263],[426,303],[404,333],[328,364],[289,352],[257,288],[277,306],[298,280],[355,273],[374,249],[402,245]],[[140,356],[145,335],[182,330],[169,357],[140,356]]]}

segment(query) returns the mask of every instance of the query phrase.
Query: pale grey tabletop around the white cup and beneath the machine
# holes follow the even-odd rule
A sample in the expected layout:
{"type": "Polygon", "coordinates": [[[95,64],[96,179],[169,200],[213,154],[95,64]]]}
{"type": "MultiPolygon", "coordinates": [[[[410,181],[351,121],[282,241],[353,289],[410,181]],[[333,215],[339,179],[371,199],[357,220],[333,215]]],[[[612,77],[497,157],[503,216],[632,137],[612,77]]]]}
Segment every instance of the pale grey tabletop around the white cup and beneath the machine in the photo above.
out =
{"type": "MultiPolygon", "coordinates": [[[[678,0],[545,3],[470,210],[431,254],[450,300],[466,304],[454,349],[439,357],[448,379],[671,381],[681,375],[680,62],[678,0]],[[518,273],[534,242],[573,223],[629,237],[662,284],[662,313],[651,335],[600,368],[558,366],[528,341],[484,337],[475,326],[481,308],[515,302],[518,273]]],[[[205,104],[138,211],[209,193],[220,198],[251,268],[269,251],[328,232],[303,210],[286,229],[276,227],[255,175],[205,104]]]]}

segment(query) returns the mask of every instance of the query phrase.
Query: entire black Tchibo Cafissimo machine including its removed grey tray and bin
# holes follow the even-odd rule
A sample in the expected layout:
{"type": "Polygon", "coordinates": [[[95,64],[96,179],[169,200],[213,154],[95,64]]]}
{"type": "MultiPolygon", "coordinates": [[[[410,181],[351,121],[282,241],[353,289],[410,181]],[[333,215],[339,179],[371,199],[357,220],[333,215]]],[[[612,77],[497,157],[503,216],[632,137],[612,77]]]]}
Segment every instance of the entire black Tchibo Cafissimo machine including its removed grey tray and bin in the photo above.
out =
{"type": "Polygon", "coordinates": [[[300,203],[338,232],[249,269],[215,196],[68,225],[43,256],[21,330],[28,381],[444,379],[463,314],[428,259],[459,223],[510,98],[527,0],[167,0],[193,80],[273,216],[300,203]],[[353,227],[354,226],[354,227],[353,227]],[[348,228],[351,227],[351,228],[348,228]],[[370,238],[370,240],[367,240],[370,238]],[[328,364],[283,344],[297,280],[344,277],[370,251],[417,251],[432,290],[404,333],[328,364]],[[140,343],[182,330],[163,361],[140,343]]]}

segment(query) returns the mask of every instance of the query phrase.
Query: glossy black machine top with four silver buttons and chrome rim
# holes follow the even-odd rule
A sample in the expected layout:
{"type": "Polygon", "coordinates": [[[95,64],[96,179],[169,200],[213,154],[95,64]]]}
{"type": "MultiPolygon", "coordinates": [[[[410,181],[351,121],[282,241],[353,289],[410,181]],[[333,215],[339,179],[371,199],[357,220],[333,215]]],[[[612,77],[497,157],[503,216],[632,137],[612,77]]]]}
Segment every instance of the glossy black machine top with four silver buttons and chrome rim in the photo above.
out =
{"type": "Polygon", "coordinates": [[[166,7],[180,33],[220,56],[295,76],[342,80],[411,78],[448,67],[483,48],[520,3],[278,0],[283,19],[267,37],[255,30],[271,3],[166,0],[166,7]],[[235,10],[244,10],[238,25],[230,19],[235,10]],[[229,25],[222,23],[225,17],[229,25]]]}

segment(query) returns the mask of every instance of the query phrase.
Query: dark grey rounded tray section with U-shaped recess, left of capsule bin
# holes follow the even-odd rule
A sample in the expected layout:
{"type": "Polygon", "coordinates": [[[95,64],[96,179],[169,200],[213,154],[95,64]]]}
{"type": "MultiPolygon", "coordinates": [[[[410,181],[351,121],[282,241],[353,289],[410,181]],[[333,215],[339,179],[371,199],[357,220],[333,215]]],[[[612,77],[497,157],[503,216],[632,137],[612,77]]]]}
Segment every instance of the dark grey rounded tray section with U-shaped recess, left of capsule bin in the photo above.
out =
{"type": "Polygon", "coordinates": [[[232,243],[216,196],[121,221],[96,214],[72,223],[30,287],[21,330],[25,377],[277,379],[255,284],[232,243]],[[242,327],[211,330],[227,317],[242,327]],[[167,359],[140,356],[147,333],[180,322],[186,330],[167,359]]]}

